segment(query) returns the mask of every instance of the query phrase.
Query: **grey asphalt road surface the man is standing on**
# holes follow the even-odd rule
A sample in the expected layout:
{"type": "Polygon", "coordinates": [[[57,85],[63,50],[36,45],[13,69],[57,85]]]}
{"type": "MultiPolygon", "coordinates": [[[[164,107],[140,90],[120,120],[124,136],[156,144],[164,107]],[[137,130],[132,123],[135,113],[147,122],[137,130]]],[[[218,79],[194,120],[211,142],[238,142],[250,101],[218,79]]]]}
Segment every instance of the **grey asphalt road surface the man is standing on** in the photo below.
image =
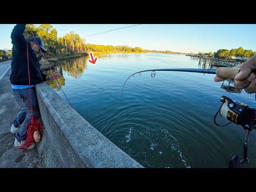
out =
{"type": "MultiPolygon", "coordinates": [[[[6,67],[8,66],[10,64],[6,67]]],[[[0,72],[4,73],[4,66],[0,72]]],[[[0,81],[0,168],[41,168],[36,147],[31,150],[14,147],[14,134],[10,132],[10,122],[20,111],[20,106],[12,96],[10,74],[11,70],[0,81]]]]}

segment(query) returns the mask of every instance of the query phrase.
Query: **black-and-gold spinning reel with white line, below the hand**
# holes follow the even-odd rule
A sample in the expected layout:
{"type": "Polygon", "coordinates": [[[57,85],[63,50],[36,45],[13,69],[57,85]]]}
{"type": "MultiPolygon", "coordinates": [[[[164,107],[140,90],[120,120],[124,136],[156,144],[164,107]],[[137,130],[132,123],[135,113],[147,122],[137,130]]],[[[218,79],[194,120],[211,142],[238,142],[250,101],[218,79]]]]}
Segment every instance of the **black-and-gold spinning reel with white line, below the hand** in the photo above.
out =
{"type": "Polygon", "coordinates": [[[240,166],[243,166],[249,162],[249,159],[247,158],[247,149],[250,131],[256,128],[256,109],[249,108],[248,105],[233,101],[226,96],[222,96],[220,102],[222,102],[222,104],[218,112],[214,116],[214,123],[217,126],[226,126],[233,122],[237,125],[241,125],[245,130],[244,158],[239,161],[238,156],[234,155],[229,162],[230,168],[239,168],[240,166]],[[220,116],[227,118],[230,122],[225,125],[217,124],[216,116],[218,114],[220,114],[220,116]]]}

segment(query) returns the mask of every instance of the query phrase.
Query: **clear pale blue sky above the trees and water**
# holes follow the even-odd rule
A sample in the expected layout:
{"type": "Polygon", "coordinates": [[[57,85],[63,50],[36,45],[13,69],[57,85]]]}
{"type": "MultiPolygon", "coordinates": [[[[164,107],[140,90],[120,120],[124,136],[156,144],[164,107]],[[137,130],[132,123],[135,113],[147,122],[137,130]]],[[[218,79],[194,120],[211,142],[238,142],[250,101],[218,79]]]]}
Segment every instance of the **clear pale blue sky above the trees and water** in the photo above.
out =
{"type": "MultiPolygon", "coordinates": [[[[58,36],[70,31],[82,36],[134,24],[51,24],[58,36]]],[[[12,48],[10,34],[15,24],[0,24],[0,48],[12,48]]],[[[36,24],[39,26],[39,24],[36,24]]],[[[86,37],[86,43],[139,46],[173,52],[214,52],[242,46],[256,51],[256,24],[143,24],[86,37]]]]}

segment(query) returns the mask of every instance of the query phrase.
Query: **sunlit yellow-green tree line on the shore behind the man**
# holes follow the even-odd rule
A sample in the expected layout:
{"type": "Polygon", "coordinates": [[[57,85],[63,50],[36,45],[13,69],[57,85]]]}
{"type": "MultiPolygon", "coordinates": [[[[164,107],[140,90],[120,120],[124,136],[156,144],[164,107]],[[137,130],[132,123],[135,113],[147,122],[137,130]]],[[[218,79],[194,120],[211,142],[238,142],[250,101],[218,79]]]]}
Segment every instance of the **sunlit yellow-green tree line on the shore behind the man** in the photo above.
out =
{"type": "Polygon", "coordinates": [[[156,51],[156,50],[143,50],[140,47],[130,46],[112,46],[112,45],[96,45],[86,44],[86,40],[81,38],[78,34],[70,32],[63,37],[57,37],[57,30],[50,24],[41,24],[36,27],[30,24],[27,25],[24,31],[25,38],[38,36],[44,41],[44,46],[48,50],[47,54],[62,54],[62,53],[88,53],[93,52],[164,52],[172,53],[171,51],[156,51]]]}

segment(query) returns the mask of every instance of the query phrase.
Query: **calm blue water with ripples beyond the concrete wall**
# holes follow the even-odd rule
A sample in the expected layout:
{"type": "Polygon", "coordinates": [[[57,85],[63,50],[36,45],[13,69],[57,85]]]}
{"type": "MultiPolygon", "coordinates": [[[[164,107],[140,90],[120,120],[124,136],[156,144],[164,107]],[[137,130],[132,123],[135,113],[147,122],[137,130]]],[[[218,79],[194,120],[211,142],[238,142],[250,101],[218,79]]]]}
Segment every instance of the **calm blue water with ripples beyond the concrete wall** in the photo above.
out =
{"type": "MultiPolygon", "coordinates": [[[[243,155],[244,129],[218,127],[213,117],[222,95],[255,107],[254,94],[214,82],[212,74],[151,72],[154,68],[198,68],[198,60],[176,54],[98,54],[59,62],[62,88],[74,109],[145,167],[224,168],[243,155]]],[[[55,80],[49,84],[64,99],[55,80]]],[[[229,85],[229,86],[228,86],[229,85]]],[[[227,120],[218,117],[219,123],[227,120]]],[[[246,167],[256,167],[256,134],[250,135],[246,167]]]]}

